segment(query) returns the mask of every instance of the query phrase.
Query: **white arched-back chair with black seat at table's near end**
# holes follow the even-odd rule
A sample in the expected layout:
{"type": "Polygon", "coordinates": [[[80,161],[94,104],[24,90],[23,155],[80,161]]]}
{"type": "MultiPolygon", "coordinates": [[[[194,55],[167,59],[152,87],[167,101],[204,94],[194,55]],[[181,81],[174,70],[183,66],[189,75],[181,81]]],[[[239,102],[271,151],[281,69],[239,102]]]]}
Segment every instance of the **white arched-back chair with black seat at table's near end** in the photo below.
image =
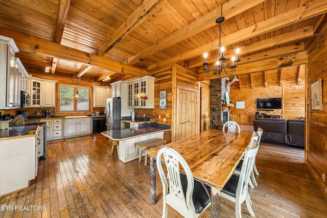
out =
{"type": "Polygon", "coordinates": [[[198,217],[211,205],[211,189],[195,181],[189,165],[172,148],[161,148],[157,153],[157,168],[162,182],[162,217],[167,217],[168,205],[184,217],[198,217]],[[167,167],[167,175],[162,169],[162,156],[167,167]],[[183,168],[184,174],[180,173],[183,168]]]}

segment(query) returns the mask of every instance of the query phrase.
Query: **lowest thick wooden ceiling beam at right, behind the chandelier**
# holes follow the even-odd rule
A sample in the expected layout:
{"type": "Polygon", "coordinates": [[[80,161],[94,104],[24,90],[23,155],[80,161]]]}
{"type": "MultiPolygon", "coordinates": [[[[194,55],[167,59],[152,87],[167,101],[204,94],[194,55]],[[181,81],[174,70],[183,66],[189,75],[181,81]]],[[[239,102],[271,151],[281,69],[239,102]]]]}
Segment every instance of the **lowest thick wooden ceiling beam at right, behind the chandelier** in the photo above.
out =
{"type": "MultiPolygon", "coordinates": [[[[279,57],[267,58],[259,61],[240,64],[237,70],[233,73],[233,75],[249,74],[250,72],[265,71],[269,69],[278,69],[288,66],[305,64],[307,62],[308,62],[308,54],[306,51],[303,51],[291,55],[283,55],[279,57]]],[[[220,75],[220,77],[227,77],[227,76],[228,75],[226,75],[224,71],[220,75]]],[[[198,75],[198,81],[213,80],[217,78],[218,75],[207,77],[205,76],[204,72],[201,72],[198,75]]]]}

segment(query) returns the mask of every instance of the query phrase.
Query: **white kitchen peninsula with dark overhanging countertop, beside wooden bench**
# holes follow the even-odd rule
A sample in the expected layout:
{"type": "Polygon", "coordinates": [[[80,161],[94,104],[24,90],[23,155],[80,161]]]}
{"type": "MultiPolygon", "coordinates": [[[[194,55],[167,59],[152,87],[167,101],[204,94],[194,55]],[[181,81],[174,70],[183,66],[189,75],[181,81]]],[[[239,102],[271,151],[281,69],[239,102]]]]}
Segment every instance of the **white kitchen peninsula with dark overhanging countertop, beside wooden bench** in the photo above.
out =
{"type": "MultiPolygon", "coordinates": [[[[170,130],[166,125],[148,125],[146,127],[133,127],[121,130],[104,131],[101,134],[112,141],[119,141],[118,157],[124,163],[139,157],[136,143],[151,138],[164,138],[164,132],[170,130]]],[[[145,155],[145,154],[144,154],[145,155]]]]}

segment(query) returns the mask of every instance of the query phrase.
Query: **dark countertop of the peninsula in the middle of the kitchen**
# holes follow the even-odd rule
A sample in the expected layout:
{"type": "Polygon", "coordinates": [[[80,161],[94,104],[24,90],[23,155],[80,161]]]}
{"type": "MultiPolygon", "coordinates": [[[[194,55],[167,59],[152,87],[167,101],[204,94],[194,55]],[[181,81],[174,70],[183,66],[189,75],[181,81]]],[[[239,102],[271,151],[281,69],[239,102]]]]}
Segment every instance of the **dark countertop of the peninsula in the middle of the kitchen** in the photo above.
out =
{"type": "Polygon", "coordinates": [[[147,127],[134,127],[122,130],[109,130],[104,131],[101,134],[113,141],[121,141],[129,138],[135,138],[142,135],[148,135],[157,132],[163,132],[170,130],[170,127],[161,126],[147,126],[147,127]]]}

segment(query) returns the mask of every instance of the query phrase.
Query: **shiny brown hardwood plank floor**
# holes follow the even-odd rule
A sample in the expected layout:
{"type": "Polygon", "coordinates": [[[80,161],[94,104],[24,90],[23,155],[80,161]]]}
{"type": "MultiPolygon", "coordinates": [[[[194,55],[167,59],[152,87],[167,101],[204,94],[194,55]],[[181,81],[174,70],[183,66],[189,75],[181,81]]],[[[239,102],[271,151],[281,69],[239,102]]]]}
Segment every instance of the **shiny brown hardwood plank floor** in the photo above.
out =
{"type": "MultiPolygon", "coordinates": [[[[261,143],[256,166],[258,187],[249,188],[256,217],[327,216],[327,198],[308,172],[302,149],[261,143]]],[[[104,136],[48,142],[37,178],[28,188],[0,197],[0,217],[161,217],[162,186],[156,178],[152,206],[149,164],[122,163],[116,150],[111,155],[104,136]]],[[[221,217],[235,217],[235,205],[221,202],[221,217]]],[[[180,217],[168,211],[169,217],[180,217]]],[[[242,215],[250,217],[245,203],[242,215]]],[[[200,217],[209,216],[207,209],[200,217]]]]}

